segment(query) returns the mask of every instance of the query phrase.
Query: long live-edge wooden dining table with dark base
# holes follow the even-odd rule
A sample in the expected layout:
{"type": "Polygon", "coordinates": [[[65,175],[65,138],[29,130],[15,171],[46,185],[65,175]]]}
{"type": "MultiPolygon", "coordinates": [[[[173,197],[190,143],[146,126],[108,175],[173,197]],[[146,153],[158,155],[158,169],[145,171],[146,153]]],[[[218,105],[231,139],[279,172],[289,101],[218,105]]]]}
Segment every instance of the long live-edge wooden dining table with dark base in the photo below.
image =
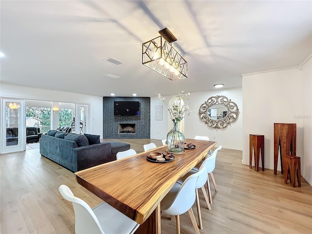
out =
{"type": "Polygon", "coordinates": [[[160,234],[160,202],[176,181],[187,174],[216,142],[185,139],[195,145],[170,162],[147,160],[151,152],[165,153],[167,145],[76,172],[77,182],[140,224],[136,234],[160,234]]]}

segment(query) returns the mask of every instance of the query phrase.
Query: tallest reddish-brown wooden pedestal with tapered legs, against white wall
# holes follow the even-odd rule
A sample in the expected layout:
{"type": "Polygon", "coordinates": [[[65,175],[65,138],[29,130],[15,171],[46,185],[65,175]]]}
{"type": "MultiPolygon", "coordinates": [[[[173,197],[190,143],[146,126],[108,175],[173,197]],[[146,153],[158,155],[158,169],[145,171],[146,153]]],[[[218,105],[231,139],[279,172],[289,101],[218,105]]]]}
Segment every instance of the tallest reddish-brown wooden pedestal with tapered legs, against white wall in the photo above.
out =
{"type": "Polygon", "coordinates": [[[284,163],[284,157],[286,155],[296,155],[295,123],[274,123],[274,175],[277,175],[278,148],[281,161],[281,173],[283,174],[285,167],[288,167],[288,165],[284,163]]]}

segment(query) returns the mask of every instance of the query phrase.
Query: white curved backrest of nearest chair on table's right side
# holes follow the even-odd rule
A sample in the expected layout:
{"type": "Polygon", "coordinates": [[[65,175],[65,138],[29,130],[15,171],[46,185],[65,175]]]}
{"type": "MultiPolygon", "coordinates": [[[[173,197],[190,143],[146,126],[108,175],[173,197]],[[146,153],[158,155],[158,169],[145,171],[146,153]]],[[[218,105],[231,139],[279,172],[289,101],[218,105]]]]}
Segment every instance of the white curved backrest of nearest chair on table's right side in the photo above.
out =
{"type": "Polygon", "coordinates": [[[183,184],[181,185],[179,191],[176,194],[176,197],[173,203],[164,212],[168,212],[168,214],[171,214],[171,215],[182,215],[185,212],[187,212],[193,206],[195,202],[196,182],[197,182],[198,176],[201,176],[201,175],[204,175],[207,177],[207,170],[204,166],[201,167],[201,169],[197,173],[187,177],[184,180],[183,184]]]}

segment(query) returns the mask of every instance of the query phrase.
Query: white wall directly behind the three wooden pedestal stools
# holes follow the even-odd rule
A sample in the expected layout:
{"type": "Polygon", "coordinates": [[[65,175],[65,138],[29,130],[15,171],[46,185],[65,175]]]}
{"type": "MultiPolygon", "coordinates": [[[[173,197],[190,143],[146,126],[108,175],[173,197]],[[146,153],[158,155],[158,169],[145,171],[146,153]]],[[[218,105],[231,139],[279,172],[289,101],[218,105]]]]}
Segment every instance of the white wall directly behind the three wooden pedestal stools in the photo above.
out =
{"type": "MultiPolygon", "coordinates": [[[[296,123],[296,155],[301,174],[312,183],[312,62],[282,71],[243,76],[243,159],[249,165],[249,135],[265,137],[265,168],[274,168],[274,123],[296,123]]],[[[280,170],[280,161],[278,161],[280,170]]]]}

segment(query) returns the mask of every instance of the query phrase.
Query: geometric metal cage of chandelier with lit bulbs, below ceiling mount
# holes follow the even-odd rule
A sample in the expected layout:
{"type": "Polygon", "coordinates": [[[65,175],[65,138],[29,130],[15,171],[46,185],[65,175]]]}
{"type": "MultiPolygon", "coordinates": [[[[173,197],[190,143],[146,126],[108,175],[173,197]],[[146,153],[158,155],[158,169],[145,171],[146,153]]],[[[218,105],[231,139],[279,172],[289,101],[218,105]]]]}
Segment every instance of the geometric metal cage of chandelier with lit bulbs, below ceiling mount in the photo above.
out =
{"type": "Polygon", "coordinates": [[[142,64],[171,80],[187,78],[187,61],[162,36],[142,44],[142,64]]]}

